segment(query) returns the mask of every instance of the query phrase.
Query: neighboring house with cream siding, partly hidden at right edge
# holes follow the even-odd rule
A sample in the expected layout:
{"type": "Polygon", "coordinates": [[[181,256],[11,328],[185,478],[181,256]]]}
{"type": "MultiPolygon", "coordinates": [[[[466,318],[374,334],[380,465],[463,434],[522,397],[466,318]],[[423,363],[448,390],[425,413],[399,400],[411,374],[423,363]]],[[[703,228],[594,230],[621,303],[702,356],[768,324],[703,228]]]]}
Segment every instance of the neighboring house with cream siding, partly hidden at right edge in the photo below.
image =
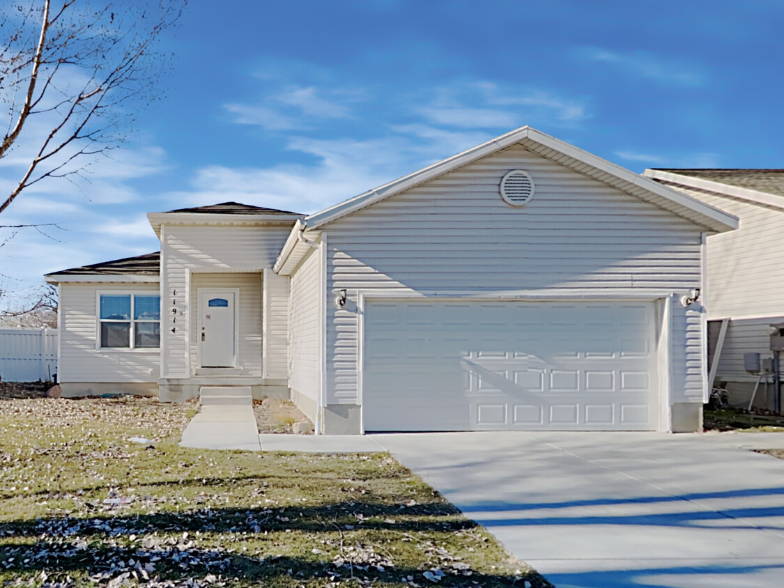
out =
{"type": "MultiPolygon", "coordinates": [[[[768,328],[784,323],[784,169],[647,169],[644,176],[739,217],[738,230],[708,238],[705,299],[714,383],[727,387],[731,404],[748,405],[758,376],[744,355],[772,358],[768,328]]],[[[775,408],[774,377],[762,381],[755,404],[775,408]]]]}

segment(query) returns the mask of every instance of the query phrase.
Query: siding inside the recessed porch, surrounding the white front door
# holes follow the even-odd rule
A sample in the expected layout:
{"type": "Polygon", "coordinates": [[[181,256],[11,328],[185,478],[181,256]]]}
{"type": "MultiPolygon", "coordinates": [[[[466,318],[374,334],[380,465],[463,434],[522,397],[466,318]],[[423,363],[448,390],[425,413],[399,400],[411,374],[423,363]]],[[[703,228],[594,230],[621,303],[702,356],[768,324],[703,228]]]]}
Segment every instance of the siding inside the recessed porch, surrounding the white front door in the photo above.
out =
{"type": "MultiPolygon", "coordinates": [[[[198,289],[238,289],[237,368],[243,375],[261,377],[262,325],[261,325],[261,274],[191,274],[191,302],[198,308],[198,289]]],[[[198,312],[192,312],[191,332],[198,333],[198,312]]],[[[197,337],[191,340],[189,353],[191,365],[199,367],[197,337]]]]}

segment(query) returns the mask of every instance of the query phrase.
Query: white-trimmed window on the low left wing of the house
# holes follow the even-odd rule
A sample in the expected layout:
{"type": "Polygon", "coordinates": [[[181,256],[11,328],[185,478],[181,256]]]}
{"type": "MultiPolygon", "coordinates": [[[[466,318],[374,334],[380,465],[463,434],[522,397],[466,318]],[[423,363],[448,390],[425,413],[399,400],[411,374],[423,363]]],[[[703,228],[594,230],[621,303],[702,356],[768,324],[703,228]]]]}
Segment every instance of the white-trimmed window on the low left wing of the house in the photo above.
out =
{"type": "Polygon", "coordinates": [[[161,347],[161,296],[101,294],[100,347],[161,347]]]}

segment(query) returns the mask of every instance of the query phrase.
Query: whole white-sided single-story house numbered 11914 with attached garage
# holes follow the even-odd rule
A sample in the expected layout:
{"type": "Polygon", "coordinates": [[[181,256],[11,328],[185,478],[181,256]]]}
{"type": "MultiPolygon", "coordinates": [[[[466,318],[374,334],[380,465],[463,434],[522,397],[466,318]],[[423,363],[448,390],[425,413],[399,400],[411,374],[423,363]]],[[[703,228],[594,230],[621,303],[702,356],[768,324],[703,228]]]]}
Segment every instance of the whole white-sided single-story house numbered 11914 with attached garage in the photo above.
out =
{"type": "Polygon", "coordinates": [[[535,129],[310,216],[148,217],[159,270],[46,278],[65,394],[252,386],[328,434],[701,426],[704,310],[681,297],[737,220],[535,129]]]}

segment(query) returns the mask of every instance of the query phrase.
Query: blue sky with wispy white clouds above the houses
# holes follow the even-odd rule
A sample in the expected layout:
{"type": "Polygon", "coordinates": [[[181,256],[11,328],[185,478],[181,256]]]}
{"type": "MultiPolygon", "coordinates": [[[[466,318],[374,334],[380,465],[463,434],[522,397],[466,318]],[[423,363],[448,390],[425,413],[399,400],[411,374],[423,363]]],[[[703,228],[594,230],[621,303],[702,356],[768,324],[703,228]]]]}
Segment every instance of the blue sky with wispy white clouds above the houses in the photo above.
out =
{"type": "MultiPolygon", "coordinates": [[[[158,250],[146,212],[314,212],[521,125],[636,172],[784,168],[782,2],[216,6],[191,0],[165,38],[166,99],[128,148],[3,213],[64,230],[0,248],[0,305],[47,271],[158,250]]],[[[0,166],[0,188],[17,174],[0,166]]]]}

